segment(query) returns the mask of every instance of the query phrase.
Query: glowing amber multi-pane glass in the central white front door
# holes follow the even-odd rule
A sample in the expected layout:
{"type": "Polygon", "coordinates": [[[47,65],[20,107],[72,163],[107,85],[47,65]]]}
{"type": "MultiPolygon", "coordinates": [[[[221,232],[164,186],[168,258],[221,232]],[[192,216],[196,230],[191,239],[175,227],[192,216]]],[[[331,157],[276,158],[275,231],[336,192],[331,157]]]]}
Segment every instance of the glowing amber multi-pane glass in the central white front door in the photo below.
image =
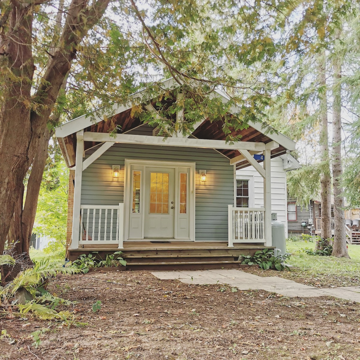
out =
{"type": "Polygon", "coordinates": [[[169,174],[150,172],[150,214],[169,212],[169,174]]]}

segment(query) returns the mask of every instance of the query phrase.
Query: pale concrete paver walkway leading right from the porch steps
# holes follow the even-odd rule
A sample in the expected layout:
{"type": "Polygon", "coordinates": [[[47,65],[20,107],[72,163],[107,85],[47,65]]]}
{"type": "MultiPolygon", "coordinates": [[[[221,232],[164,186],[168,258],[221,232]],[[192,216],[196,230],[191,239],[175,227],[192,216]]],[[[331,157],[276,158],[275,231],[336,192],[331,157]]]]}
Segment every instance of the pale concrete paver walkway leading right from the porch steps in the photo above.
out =
{"type": "Polygon", "coordinates": [[[265,290],[291,297],[334,296],[360,302],[360,286],[316,288],[277,276],[262,277],[237,269],[153,271],[159,279],[177,279],[185,284],[228,284],[239,290],[265,290]]]}

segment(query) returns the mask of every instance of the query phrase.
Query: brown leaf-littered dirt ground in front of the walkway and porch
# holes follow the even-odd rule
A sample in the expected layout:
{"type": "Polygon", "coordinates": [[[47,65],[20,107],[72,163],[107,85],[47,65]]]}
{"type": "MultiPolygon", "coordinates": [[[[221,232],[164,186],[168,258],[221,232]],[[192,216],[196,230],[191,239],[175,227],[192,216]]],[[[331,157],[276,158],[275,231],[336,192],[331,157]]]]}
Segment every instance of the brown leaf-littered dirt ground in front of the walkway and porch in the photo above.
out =
{"type": "Polygon", "coordinates": [[[63,306],[70,319],[1,310],[0,359],[360,359],[360,304],[340,299],[188,285],[147,271],[58,276],[48,290],[76,302],[63,306]]]}

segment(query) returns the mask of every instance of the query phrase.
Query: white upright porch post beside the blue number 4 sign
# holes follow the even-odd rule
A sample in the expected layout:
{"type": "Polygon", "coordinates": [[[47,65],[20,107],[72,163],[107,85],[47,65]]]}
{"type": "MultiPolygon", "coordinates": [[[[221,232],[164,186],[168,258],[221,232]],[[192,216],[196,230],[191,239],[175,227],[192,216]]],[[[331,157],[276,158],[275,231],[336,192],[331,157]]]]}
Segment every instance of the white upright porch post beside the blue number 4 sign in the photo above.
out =
{"type": "Polygon", "coordinates": [[[271,150],[266,149],[264,154],[264,208],[265,208],[265,246],[272,246],[271,237],[271,150]]]}

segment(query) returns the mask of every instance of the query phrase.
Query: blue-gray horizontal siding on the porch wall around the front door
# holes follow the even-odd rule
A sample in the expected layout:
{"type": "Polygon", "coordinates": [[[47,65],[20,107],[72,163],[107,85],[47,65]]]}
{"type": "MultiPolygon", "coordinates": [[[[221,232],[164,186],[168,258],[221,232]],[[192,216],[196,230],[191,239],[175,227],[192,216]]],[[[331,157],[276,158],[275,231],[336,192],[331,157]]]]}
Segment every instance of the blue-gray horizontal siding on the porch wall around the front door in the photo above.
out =
{"type": "Polygon", "coordinates": [[[125,159],[195,162],[195,239],[228,239],[228,204],[234,203],[234,167],[229,159],[212,149],[114,144],[83,172],[82,204],[123,202],[125,159]],[[113,181],[112,165],[121,166],[118,181],[113,181]],[[206,170],[206,185],[200,184],[199,170],[206,170]]]}

